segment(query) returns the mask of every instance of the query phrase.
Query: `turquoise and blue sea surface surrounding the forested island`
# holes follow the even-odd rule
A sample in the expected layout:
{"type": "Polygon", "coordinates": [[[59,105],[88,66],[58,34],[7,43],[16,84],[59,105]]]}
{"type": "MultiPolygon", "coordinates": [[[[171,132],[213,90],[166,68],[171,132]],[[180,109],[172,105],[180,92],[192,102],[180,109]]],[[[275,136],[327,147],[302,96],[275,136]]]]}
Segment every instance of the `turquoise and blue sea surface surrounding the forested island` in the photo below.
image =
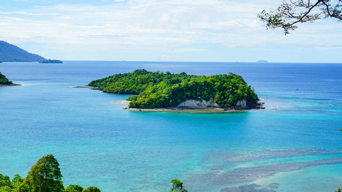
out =
{"type": "Polygon", "coordinates": [[[25,177],[54,154],[64,186],[160,192],[335,191],[342,184],[342,64],[64,61],[0,64],[0,173],[25,177]],[[86,85],[150,71],[240,74],[266,109],[232,113],[122,110],[126,95],[86,85]]]}

